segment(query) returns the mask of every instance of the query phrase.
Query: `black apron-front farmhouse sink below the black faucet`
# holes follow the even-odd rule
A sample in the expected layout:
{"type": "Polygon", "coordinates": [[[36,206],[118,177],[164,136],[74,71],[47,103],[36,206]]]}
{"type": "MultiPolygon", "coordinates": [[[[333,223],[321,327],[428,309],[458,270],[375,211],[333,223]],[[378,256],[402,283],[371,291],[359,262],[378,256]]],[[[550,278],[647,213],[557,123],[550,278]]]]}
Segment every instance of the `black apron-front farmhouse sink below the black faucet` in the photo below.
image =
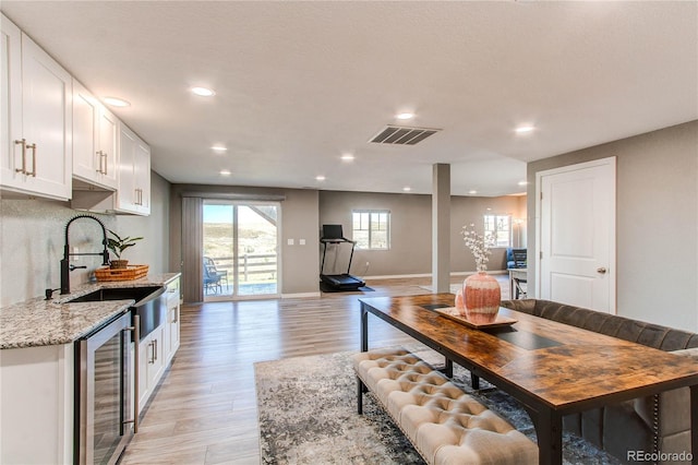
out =
{"type": "Polygon", "coordinates": [[[167,315],[167,296],[165,286],[147,287],[107,287],[97,289],[84,296],[68,300],[68,303],[101,302],[105,300],[133,299],[131,318],[140,317],[141,341],[160,325],[167,315]]]}

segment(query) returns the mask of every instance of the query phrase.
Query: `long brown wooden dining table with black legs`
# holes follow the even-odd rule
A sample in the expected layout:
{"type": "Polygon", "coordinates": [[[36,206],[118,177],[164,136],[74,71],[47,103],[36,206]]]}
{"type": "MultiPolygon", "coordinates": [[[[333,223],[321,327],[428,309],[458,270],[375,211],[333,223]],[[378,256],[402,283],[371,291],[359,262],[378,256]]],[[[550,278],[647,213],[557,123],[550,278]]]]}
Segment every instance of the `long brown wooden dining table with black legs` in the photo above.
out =
{"type": "Polygon", "coordinates": [[[373,314],[508,393],[531,417],[541,464],[562,464],[565,415],[685,386],[698,451],[698,366],[688,357],[505,308],[501,319],[516,322],[472,327],[440,313],[453,294],[359,300],[362,351],[373,314]]]}

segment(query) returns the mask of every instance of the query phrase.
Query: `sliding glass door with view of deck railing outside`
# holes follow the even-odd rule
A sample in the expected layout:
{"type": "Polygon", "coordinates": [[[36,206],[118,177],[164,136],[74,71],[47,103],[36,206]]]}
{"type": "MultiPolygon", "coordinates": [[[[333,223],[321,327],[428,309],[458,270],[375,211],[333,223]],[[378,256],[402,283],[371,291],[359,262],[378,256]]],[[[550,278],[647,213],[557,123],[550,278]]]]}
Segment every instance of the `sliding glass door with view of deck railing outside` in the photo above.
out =
{"type": "Polygon", "coordinates": [[[278,295],[276,202],[205,200],[204,300],[278,295]]]}

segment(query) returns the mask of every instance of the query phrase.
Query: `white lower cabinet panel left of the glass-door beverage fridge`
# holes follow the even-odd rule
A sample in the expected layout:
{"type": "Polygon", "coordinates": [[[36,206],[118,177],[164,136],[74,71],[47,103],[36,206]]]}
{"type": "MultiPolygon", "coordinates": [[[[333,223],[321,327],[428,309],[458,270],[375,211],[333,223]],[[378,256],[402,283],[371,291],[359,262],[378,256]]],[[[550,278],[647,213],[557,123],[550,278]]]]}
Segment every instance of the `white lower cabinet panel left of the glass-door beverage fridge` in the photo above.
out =
{"type": "Polygon", "coordinates": [[[73,463],[72,344],[3,349],[0,463],[73,463]]]}

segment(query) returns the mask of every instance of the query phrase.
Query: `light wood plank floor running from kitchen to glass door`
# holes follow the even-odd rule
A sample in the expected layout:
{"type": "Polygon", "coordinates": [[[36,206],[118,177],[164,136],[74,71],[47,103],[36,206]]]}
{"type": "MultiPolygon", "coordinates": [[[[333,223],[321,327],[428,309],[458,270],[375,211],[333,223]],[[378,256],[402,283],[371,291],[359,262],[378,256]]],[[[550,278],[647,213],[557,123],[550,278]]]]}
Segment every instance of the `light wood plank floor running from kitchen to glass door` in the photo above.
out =
{"type": "MultiPolygon", "coordinates": [[[[258,464],[253,363],[359,350],[359,298],[428,294],[420,286],[430,284],[383,279],[368,282],[370,293],[182,306],[181,346],[121,463],[258,464]]],[[[371,347],[412,341],[376,318],[369,324],[371,347]]]]}

